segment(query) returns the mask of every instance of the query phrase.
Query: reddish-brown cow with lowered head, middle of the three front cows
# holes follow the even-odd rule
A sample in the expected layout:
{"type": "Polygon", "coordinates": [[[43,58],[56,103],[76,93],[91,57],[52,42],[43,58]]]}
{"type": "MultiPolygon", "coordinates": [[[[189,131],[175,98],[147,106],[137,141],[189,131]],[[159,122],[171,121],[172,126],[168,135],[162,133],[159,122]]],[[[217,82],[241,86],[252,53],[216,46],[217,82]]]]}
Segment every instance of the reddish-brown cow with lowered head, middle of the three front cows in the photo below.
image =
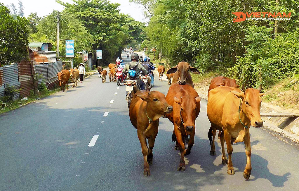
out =
{"type": "Polygon", "coordinates": [[[173,84],[168,90],[166,101],[173,106],[173,112],[167,114],[167,118],[173,123],[176,136],[175,149],[179,148],[181,151],[178,171],[184,171],[184,155],[190,154],[194,144],[195,119],[199,115],[200,97],[190,85],[173,84]],[[190,135],[190,140],[185,150],[185,140],[188,135],[190,135]]]}

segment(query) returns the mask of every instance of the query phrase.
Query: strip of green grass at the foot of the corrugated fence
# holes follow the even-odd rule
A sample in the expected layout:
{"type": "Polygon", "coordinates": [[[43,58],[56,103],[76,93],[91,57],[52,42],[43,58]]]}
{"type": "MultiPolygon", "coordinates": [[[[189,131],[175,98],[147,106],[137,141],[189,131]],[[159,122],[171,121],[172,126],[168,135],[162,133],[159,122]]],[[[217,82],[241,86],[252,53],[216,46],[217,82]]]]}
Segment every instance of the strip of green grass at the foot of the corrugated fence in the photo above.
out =
{"type": "Polygon", "coordinates": [[[7,102],[0,101],[0,114],[6,113],[6,112],[11,111],[11,110],[15,110],[19,107],[22,107],[24,105],[27,105],[27,104],[35,101],[36,99],[44,98],[46,96],[52,95],[52,94],[54,94],[56,92],[59,92],[59,91],[61,91],[60,87],[55,88],[51,91],[43,92],[39,96],[30,95],[30,96],[27,96],[28,100],[25,100],[25,101],[22,101],[21,99],[17,99],[17,100],[14,100],[14,101],[7,101],[7,102]]]}

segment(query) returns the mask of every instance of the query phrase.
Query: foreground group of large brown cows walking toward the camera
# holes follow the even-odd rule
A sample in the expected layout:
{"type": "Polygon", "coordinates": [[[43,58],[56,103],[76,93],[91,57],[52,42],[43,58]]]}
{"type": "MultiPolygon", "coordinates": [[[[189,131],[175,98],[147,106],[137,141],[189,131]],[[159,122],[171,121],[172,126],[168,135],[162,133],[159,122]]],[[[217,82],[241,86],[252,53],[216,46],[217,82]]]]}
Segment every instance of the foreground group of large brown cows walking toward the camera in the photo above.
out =
{"type": "MultiPolygon", "coordinates": [[[[158,68],[159,77],[163,77],[164,67],[158,68]],[[163,71],[163,72],[162,72],[163,71]],[[161,74],[161,75],[160,75],[161,74]]],[[[184,155],[191,153],[195,136],[195,120],[200,111],[200,97],[194,90],[191,73],[199,74],[186,62],[167,70],[168,83],[173,80],[166,97],[158,91],[138,91],[134,94],[129,108],[132,125],[137,129],[144,157],[144,175],[149,176],[149,164],[152,163],[152,149],[158,134],[159,118],[168,118],[173,123],[172,141],[176,141],[175,149],[180,151],[181,157],[178,171],[185,170],[184,155]],[[148,119],[148,120],[144,120],[148,119]],[[189,137],[188,137],[189,136],[189,137]],[[147,140],[148,145],[147,145],[147,140]],[[186,149],[186,145],[188,145],[186,149]]],[[[244,86],[239,89],[236,80],[223,76],[213,78],[208,90],[207,114],[211,123],[208,133],[211,150],[215,155],[215,136],[219,131],[222,147],[222,163],[228,164],[228,174],[234,175],[232,164],[232,144],[244,142],[247,163],[243,176],[246,180],[251,174],[251,146],[250,126],[262,127],[260,104],[262,86],[258,89],[244,86]],[[227,145],[228,159],[225,154],[224,143],[227,145]]]]}

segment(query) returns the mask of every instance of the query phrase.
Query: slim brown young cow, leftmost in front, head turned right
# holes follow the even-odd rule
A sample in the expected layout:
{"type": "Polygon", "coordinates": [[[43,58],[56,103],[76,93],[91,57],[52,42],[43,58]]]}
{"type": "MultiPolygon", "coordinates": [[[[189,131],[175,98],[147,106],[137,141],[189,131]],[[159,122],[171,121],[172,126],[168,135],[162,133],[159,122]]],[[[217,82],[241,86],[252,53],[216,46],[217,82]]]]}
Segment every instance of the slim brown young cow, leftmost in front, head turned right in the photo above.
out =
{"type": "Polygon", "coordinates": [[[149,164],[152,163],[152,149],[155,138],[158,134],[159,118],[170,113],[173,107],[170,106],[164,94],[157,91],[141,90],[134,94],[129,116],[132,125],[137,129],[137,135],[141,144],[144,157],[144,176],[149,176],[149,164]],[[147,140],[149,146],[147,147],[147,140]]]}

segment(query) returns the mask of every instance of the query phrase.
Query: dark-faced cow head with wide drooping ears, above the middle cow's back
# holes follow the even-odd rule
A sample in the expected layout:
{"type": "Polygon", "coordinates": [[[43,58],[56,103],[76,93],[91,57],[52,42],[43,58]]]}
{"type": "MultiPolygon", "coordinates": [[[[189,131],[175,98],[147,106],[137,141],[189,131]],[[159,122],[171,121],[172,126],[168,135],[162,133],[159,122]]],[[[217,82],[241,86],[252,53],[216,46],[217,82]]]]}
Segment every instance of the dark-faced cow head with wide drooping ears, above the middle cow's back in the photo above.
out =
{"type": "Polygon", "coordinates": [[[186,78],[187,78],[187,75],[188,75],[189,71],[191,73],[194,73],[194,74],[200,74],[198,69],[193,68],[192,66],[189,65],[189,63],[184,62],[184,61],[179,62],[178,65],[170,68],[166,73],[171,74],[171,73],[178,72],[178,75],[179,75],[178,82],[179,82],[179,84],[185,85],[186,84],[186,78]]]}

